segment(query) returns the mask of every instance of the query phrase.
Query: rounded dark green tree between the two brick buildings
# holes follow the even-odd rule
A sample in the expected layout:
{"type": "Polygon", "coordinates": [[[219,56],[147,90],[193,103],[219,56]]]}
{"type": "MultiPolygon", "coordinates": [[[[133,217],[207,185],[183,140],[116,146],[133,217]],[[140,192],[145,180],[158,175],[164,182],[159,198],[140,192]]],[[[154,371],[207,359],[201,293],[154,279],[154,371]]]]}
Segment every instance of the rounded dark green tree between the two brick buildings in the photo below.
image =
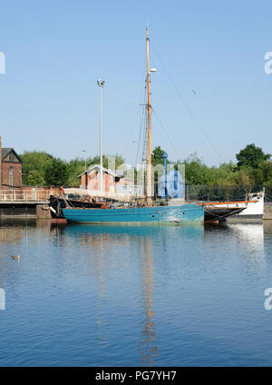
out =
{"type": "Polygon", "coordinates": [[[62,186],[68,183],[69,169],[61,159],[53,159],[53,162],[45,168],[44,180],[48,185],[62,186]]]}

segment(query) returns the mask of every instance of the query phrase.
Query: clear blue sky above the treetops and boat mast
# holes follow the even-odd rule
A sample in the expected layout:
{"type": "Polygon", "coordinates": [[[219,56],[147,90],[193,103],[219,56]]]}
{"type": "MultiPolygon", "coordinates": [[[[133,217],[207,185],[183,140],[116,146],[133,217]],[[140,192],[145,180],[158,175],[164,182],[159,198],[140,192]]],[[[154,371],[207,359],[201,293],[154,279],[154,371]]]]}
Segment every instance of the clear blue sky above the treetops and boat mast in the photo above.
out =
{"type": "Polygon", "coordinates": [[[65,160],[83,157],[83,149],[99,153],[101,77],[104,153],[131,162],[148,22],[153,47],[213,143],[151,46],[152,107],[167,131],[154,117],[152,146],[171,160],[198,153],[208,164],[235,160],[248,143],[272,153],[272,74],[264,71],[271,15],[270,1],[253,0],[1,1],[3,146],[65,160]]]}

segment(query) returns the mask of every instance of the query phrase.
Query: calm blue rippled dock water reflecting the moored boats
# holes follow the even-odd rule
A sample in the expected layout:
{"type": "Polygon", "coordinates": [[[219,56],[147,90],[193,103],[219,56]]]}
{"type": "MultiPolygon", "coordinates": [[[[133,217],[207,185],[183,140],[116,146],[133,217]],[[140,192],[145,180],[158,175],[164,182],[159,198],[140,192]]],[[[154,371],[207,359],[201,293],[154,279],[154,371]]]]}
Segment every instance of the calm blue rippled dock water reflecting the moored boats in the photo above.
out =
{"type": "Polygon", "coordinates": [[[272,223],[1,222],[0,366],[271,365],[267,287],[272,223]]]}

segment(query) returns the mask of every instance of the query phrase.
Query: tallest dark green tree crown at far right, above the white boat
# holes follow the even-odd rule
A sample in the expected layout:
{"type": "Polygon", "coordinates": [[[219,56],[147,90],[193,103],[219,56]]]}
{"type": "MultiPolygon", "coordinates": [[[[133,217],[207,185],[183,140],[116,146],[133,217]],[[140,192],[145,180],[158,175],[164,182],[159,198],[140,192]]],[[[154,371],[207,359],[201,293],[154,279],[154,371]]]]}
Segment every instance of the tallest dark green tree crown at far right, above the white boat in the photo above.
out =
{"type": "Polygon", "coordinates": [[[257,168],[259,163],[269,160],[270,156],[270,153],[264,153],[263,150],[254,143],[248,144],[236,154],[238,169],[243,166],[257,168]]]}

